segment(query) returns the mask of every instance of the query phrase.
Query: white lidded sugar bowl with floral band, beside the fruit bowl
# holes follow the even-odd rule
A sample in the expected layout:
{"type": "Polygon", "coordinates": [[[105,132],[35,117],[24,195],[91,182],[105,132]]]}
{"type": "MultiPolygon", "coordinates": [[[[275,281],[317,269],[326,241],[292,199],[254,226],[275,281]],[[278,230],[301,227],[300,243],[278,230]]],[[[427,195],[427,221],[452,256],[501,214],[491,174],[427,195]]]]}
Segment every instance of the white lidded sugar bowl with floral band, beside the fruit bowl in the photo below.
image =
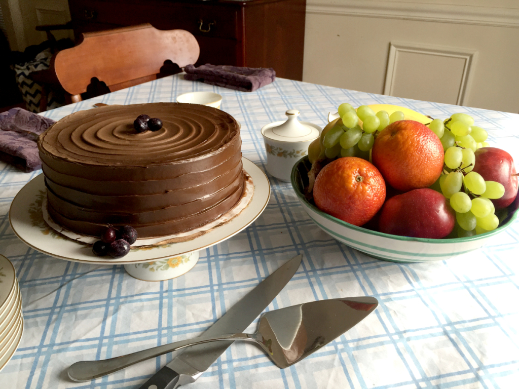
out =
{"type": "Polygon", "coordinates": [[[308,146],[321,135],[321,127],[299,121],[299,111],[289,109],[286,121],[275,121],[261,129],[267,151],[267,171],[281,181],[290,182],[295,163],[308,154],[308,146]]]}

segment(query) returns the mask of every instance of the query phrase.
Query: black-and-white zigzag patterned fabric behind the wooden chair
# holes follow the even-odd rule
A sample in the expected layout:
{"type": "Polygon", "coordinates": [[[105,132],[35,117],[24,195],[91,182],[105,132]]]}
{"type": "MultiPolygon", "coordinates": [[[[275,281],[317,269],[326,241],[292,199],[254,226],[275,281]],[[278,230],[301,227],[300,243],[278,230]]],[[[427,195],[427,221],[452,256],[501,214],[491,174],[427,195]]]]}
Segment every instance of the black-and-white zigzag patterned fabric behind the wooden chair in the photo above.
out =
{"type": "MultiPolygon", "coordinates": [[[[46,49],[36,55],[33,61],[26,62],[23,65],[13,65],[12,68],[16,73],[16,81],[18,88],[23,96],[23,101],[27,110],[30,112],[39,112],[39,101],[42,98],[42,86],[34,82],[29,75],[38,70],[49,68],[52,52],[46,49]]],[[[63,96],[54,95],[49,92],[47,98],[47,109],[57,108],[65,105],[63,96]]]]}

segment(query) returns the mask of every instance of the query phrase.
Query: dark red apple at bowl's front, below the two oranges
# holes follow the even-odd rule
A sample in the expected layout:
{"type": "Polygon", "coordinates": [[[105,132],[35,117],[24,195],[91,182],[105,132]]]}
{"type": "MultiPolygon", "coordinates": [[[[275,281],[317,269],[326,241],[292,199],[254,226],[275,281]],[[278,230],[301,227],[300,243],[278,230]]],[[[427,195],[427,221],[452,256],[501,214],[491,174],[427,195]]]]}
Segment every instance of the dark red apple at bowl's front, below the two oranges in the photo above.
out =
{"type": "Polygon", "coordinates": [[[456,213],[433,189],[414,189],[386,200],[378,220],[380,232],[403,237],[445,238],[454,229],[456,213]]]}

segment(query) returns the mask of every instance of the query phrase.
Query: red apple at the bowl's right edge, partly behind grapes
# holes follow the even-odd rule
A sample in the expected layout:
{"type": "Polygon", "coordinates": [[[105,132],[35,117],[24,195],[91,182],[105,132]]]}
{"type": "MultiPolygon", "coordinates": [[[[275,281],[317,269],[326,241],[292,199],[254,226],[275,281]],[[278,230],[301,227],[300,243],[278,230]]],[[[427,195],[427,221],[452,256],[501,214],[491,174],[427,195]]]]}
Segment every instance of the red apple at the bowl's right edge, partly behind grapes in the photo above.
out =
{"type": "Polygon", "coordinates": [[[504,195],[492,200],[496,210],[506,208],[517,196],[517,176],[514,160],[508,152],[496,147],[482,147],[475,152],[473,172],[481,174],[485,181],[497,181],[504,186],[504,195]]]}

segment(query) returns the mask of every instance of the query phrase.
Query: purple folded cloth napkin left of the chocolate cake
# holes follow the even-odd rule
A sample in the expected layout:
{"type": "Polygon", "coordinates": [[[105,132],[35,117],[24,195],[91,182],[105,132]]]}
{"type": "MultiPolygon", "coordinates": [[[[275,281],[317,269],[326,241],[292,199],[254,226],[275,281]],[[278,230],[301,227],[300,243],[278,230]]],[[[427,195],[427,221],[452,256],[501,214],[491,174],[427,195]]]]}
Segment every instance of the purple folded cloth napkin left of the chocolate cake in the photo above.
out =
{"type": "Polygon", "coordinates": [[[54,123],[22,108],[0,113],[0,159],[25,172],[41,168],[36,142],[54,123]]]}

